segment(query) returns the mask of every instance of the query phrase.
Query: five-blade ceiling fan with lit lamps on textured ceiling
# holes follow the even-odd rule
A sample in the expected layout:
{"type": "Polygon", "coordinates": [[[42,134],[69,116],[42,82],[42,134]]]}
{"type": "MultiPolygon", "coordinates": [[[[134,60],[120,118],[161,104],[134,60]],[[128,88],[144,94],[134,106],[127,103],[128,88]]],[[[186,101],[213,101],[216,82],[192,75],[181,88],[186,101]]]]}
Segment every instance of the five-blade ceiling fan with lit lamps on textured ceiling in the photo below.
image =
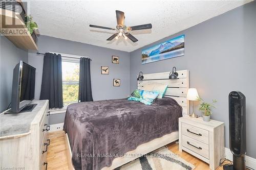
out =
{"type": "Polygon", "coordinates": [[[113,34],[108,39],[106,39],[107,41],[111,41],[114,38],[118,39],[119,37],[123,36],[124,39],[129,38],[133,42],[137,42],[138,39],[136,39],[132,34],[130,34],[130,31],[144,30],[144,29],[151,29],[152,28],[151,23],[144,24],[144,25],[139,25],[139,26],[133,26],[133,27],[126,27],[124,25],[124,18],[125,18],[124,12],[116,10],[116,19],[117,19],[116,29],[109,28],[109,27],[95,26],[95,25],[89,25],[89,26],[94,27],[94,28],[106,29],[106,30],[115,30],[116,33],[113,34]]]}

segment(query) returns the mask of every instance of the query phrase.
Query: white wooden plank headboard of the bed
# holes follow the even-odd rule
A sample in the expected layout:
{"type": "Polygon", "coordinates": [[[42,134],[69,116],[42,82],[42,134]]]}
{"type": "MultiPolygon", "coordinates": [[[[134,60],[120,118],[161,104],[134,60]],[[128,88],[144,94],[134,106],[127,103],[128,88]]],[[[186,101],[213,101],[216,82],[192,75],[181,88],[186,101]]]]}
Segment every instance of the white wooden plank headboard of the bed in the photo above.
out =
{"type": "Polygon", "coordinates": [[[147,84],[164,84],[168,85],[165,97],[175,99],[182,106],[182,115],[189,114],[189,101],[186,99],[189,88],[189,71],[178,70],[178,79],[169,79],[170,72],[159,72],[154,74],[143,74],[144,79],[138,81],[138,89],[147,84]]]}

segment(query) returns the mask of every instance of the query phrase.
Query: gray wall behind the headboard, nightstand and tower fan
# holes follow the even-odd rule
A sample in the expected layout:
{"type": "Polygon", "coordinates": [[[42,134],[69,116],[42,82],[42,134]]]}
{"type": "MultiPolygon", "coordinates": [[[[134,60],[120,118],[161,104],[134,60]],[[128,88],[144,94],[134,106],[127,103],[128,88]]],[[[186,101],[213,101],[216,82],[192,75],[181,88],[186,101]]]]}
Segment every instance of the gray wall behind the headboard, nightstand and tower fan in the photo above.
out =
{"type": "MultiPolygon", "coordinates": [[[[131,92],[137,88],[139,71],[144,74],[188,69],[190,87],[197,88],[207,102],[217,99],[212,118],[225,123],[225,146],[229,146],[228,94],[239,90],[246,96],[247,155],[256,158],[256,2],[209,19],[175,35],[144,46],[149,47],[185,34],[185,55],[141,64],[141,50],[130,54],[131,92]]],[[[172,26],[170,26],[172,29],[172,26]]],[[[196,104],[196,103],[195,103],[196,104]]],[[[198,103],[197,103],[198,106],[198,103]]],[[[197,107],[196,106],[196,107],[197,107]]],[[[201,114],[197,111],[198,114],[201,114]]]]}

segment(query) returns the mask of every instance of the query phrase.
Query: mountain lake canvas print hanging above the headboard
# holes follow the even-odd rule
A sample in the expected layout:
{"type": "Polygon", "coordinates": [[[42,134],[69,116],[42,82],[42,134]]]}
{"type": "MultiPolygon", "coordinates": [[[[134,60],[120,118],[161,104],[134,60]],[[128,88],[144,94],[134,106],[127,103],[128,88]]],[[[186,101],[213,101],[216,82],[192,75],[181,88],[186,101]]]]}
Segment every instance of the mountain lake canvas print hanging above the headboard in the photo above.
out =
{"type": "Polygon", "coordinates": [[[142,50],[142,64],[184,56],[184,35],[142,50]]]}

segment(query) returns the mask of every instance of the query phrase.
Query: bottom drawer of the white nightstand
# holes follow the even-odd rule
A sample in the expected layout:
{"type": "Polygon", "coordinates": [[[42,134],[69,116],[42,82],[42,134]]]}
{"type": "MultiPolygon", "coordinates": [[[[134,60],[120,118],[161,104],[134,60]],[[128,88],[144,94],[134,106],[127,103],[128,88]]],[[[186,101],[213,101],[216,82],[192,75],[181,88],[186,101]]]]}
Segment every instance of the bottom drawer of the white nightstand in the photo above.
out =
{"type": "MultiPolygon", "coordinates": [[[[182,146],[209,159],[209,145],[195,140],[191,137],[182,135],[182,146]]],[[[193,153],[191,153],[193,155],[193,153]]]]}

